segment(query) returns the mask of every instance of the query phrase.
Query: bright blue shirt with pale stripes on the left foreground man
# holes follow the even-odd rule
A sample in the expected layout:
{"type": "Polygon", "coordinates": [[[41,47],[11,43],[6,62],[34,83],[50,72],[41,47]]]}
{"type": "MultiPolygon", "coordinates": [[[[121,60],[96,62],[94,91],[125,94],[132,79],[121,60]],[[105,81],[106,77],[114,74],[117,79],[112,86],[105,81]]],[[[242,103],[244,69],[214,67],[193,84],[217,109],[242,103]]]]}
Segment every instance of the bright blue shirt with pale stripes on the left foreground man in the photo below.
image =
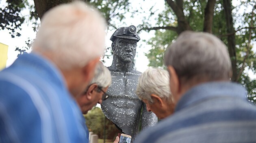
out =
{"type": "Polygon", "coordinates": [[[0,143],[88,143],[81,111],[61,72],[36,54],[0,72],[0,143]]]}

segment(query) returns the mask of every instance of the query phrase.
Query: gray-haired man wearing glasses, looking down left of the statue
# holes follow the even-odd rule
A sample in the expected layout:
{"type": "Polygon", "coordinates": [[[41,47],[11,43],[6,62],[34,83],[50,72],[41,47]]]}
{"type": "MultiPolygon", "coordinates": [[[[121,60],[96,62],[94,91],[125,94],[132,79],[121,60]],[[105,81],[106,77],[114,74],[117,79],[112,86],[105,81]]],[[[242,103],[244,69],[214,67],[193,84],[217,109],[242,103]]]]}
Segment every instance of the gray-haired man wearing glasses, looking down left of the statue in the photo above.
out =
{"type": "Polygon", "coordinates": [[[89,86],[87,86],[85,93],[76,97],[76,101],[83,114],[87,114],[93,106],[97,103],[101,104],[102,101],[108,98],[106,91],[110,84],[110,71],[101,62],[98,63],[95,69],[95,75],[89,83],[89,86]]]}

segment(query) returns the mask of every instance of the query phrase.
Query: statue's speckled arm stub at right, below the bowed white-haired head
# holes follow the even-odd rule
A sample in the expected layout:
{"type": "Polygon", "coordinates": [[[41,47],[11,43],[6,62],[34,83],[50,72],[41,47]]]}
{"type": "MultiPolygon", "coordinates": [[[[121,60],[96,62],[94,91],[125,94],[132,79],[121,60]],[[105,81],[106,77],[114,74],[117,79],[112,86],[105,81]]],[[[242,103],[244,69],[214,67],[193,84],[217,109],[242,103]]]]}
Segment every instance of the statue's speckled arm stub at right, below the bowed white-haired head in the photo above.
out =
{"type": "Polygon", "coordinates": [[[155,126],[158,122],[158,118],[156,117],[156,114],[153,112],[147,111],[146,104],[142,104],[142,116],[141,116],[141,121],[142,121],[142,129],[147,129],[150,126],[155,126]]]}

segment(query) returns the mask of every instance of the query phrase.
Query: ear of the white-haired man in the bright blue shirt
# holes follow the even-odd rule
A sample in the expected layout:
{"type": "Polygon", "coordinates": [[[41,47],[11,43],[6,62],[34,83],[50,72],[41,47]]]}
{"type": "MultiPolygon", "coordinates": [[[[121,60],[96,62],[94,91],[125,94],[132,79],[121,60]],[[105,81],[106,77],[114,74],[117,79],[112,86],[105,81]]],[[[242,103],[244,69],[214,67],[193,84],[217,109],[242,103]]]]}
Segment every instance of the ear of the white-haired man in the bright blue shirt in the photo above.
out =
{"type": "Polygon", "coordinates": [[[95,58],[95,59],[89,61],[89,63],[87,65],[82,67],[82,72],[84,75],[83,78],[87,84],[92,80],[92,78],[94,76],[94,72],[95,72],[95,67],[96,67],[97,63],[99,62],[99,60],[100,60],[100,57],[95,58]]]}

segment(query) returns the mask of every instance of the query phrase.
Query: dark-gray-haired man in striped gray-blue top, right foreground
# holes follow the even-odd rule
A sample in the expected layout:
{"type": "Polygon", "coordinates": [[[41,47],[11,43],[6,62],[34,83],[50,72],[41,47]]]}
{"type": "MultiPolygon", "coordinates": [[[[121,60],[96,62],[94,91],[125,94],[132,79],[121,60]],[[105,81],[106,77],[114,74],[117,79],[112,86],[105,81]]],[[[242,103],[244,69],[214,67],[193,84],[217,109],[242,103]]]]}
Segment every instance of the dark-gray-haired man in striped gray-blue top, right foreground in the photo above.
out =
{"type": "Polygon", "coordinates": [[[183,32],[165,53],[175,112],[137,143],[255,143],[256,107],[230,82],[226,46],[209,33],[183,32]]]}

